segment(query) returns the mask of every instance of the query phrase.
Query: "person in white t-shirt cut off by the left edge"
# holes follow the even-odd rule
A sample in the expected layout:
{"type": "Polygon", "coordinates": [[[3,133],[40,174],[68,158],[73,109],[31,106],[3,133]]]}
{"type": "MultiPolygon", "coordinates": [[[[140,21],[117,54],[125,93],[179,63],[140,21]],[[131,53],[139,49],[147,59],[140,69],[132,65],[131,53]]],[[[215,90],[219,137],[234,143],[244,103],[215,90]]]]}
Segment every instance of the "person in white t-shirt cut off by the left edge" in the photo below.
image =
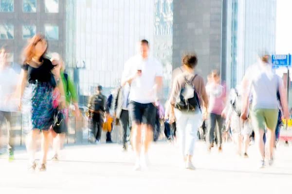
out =
{"type": "Polygon", "coordinates": [[[9,160],[13,160],[13,145],[10,132],[12,125],[12,112],[18,110],[17,101],[13,100],[18,81],[18,74],[9,66],[9,57],[9,48],[2,47],[0,49],[0,128],[6,120],[6,127],[8,130],[8,157],[9,160]]]}

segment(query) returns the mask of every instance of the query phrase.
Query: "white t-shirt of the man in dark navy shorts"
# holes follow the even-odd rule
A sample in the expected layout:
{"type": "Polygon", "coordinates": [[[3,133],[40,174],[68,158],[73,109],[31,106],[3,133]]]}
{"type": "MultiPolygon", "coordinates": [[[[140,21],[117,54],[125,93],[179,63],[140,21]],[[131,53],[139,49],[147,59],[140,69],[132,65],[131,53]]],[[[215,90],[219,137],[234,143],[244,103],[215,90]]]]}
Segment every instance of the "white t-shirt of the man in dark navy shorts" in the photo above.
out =
{"type": "Polygon", "coordinates": [[[125,64],[122,79],[134,75],[137,70],[142,70],[142,73],[131,82],[129,99],[142,104],[155,102],[153,86],[156,84],[155,78],[163,76],[161,63],[150,57],[143,59],[140,55],[134,56],[125,64]]]}

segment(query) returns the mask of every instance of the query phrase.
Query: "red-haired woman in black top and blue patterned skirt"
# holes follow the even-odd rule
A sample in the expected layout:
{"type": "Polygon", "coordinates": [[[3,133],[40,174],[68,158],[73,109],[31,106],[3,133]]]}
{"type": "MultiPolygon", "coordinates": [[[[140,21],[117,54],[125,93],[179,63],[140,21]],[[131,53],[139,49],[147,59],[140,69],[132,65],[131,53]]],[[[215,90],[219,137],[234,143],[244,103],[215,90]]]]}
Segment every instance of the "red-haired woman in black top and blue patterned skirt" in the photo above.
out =
{"type": "Polygon", "coordinates": [[[39,132],[42,132],[40,171],[46,170],[45,164],[50,145],[48,129],[54,122],[53,89],[58,85],[62,91],[63,87],[61,81],[59,82],[57,77],[52,76],[57,74],[54,70],[55,66],[44,57],[46,49],[47,41],[41,34],[36,34],[24,49],[25,61],[21,70],[21,101],[19,103],[23,130],[28,133],[26,148],[30,156],[30,170],[36,168],[36,140],[39,132]],[[51,74],[51,71],[54,74],[51,74]]]}

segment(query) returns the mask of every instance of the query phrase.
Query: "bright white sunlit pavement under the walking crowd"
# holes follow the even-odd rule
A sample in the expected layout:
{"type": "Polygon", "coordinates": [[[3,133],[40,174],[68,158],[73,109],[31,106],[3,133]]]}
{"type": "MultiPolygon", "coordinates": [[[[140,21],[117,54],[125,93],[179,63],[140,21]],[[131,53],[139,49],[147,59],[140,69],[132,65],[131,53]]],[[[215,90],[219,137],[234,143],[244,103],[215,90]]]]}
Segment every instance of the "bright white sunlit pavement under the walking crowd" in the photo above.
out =
{"type": "Polygon", "coordinates": [[[274,165],[259,169],[256,146],[249,147],[249,158],[242,158],[231,143],[221,153],[216,148],[207,153],[207,146],[197,142],[197,169],[186,170],[179,147],[162,142],[151,145],[152,165],[140,172],[133,171],[133,151],[121,150],[118,144],[66,146],[59,162],[48,161],[46,172],[28,173],[28,156],[20,147],[13,162],[1,156],[0,194],[292,193],[291,146],[279,145],[274,165]]]}

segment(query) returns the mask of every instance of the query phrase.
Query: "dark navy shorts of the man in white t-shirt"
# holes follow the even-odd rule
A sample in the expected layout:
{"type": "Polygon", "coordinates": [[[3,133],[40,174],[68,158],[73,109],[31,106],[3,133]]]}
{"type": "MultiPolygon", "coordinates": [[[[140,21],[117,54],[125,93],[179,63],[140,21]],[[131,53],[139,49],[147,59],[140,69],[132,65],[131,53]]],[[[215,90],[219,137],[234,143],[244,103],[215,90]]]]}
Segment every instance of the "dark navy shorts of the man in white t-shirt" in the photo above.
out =
{"type": "Polygon", "coordinates": [[[154,126],[156,107],[152,103],[141,104],[139,102],[130,101],[128,108],[131,122],[154,126]]]}

